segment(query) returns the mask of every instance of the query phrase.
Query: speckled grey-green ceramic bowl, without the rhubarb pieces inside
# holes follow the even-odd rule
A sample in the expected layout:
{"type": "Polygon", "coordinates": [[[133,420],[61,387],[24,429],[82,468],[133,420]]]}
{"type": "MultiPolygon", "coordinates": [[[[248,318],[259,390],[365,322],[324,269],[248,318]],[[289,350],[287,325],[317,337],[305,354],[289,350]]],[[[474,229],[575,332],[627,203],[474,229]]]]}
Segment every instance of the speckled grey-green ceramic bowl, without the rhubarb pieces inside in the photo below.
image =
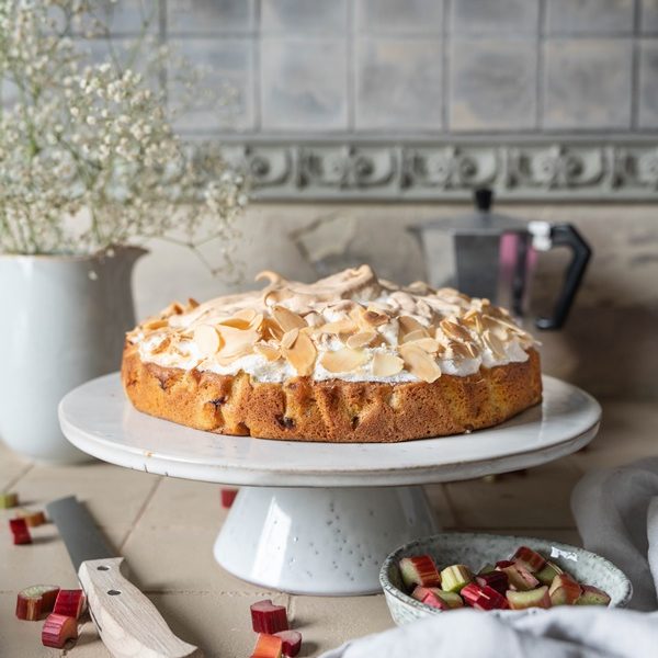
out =
{"type": "MultiPolygon", "coordinates": [[[[611,606],[624,608],[631,600],[633,587],[628,578],[611,561],[583,548],[534,537],[445,532],[405,544],[384,561],[379,582],[394,622],[401,626],[441,612],[405,593],[398,569],[398,563],[402,557],[428,554],[434,558],[439,569],[454,564],[464,564],[479,569],[486,564],[506,559],[522,545],[549,557],[579,582],[593,585],[606,591],[611,597],[611,606]]],[[[531,610],[542,612],[540,609],[531,610]]],[[[491,611],[490,614],[497,614],[497,611],[491,611]]]]}

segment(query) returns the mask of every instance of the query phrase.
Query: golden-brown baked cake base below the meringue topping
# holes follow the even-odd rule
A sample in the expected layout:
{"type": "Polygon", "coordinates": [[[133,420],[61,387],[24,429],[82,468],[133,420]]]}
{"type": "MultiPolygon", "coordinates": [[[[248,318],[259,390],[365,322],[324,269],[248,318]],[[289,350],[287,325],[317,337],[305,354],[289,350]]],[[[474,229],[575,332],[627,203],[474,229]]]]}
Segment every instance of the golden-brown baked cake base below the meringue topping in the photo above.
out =
{"type": "Polygon", "coordinates": [[[488,428],[542,399],[540,356],[480,367],[467,376],[385,383],[315,381],[283,383],[250,375],[218,375],[141,361],[126,342],[122,381],[140,411],[220,434],[287,441],[393,443],[488,428]]]}

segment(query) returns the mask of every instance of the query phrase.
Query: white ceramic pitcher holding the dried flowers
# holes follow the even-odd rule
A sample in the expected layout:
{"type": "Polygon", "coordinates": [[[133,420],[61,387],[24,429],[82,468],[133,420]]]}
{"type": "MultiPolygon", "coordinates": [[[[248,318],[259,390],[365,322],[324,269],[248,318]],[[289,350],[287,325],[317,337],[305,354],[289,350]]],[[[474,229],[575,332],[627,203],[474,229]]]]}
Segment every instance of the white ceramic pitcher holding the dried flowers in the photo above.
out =
{"type": "Polygon", "coordinates": [[[133,265],[144,253],[0,254],[0,439],[15,452],[52,464],[90,458],[64,438],[57,406],[118,370],[135,325],[133,265]]]}

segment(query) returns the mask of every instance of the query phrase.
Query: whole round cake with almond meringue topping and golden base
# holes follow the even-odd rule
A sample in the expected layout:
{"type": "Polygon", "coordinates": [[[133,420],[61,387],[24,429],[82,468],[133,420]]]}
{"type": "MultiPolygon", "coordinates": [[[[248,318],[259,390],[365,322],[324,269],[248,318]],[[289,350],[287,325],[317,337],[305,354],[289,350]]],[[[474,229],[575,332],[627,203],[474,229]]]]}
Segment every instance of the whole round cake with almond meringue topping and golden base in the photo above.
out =
{"type": "Polygon", "coordinates": [[[220,434],[395,442],[495,426],[542,397],[535,341],[487,299],[367,265],[171,304],[127,334],[146,413],[220,434]]]}

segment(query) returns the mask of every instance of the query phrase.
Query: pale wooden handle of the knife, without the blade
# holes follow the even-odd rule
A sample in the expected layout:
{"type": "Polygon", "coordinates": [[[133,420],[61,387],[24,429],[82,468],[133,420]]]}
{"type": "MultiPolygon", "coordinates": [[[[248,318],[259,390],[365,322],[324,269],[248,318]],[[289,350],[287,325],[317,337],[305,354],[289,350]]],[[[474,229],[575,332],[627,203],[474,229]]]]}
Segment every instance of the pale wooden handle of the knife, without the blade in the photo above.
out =
{"type": "Polygon", "coordinates": [[[115,658],[203,658],[121,572],[123,557],[83,561],[78,578],[101,639],[115,658]]]}

